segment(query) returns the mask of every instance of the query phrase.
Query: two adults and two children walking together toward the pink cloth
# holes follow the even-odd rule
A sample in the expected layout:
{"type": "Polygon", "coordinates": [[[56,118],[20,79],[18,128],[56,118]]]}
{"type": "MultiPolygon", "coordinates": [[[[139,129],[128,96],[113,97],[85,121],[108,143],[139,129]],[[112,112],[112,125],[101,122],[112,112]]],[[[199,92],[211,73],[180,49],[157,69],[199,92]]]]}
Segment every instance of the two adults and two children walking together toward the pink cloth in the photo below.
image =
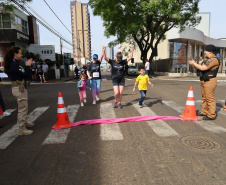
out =
{"type": "MultiPolygon", "coordinates": [[[[81,106],[84,106],[84,103],[86,103],[86,90],[92,89],[92,96],[93,96],[93,104],[96,104],[96,101],[99,101],[99,93],[101,89],[101,70],[100,65],[101,61],[104,58],[110,65],[111,65],[111,78],[112,78],[112,86],[114,90],[114,108],[122,108],[122,95],[123,90],[125,86],[125,66],[127,63],[133,58],[133,51],[134,46],[131,47],[131,53],[129,58],[122,59],[122,53],[117,52],[116,58],[114,60],[109,59],[106,57],[106,47],[102,47],[102,55],[101,58],[98,60],[98,55],[93,55],[93,61],[88,65],[87,68],[87,76],[88,80],[86,78],[86,74],[81,74],[80,81],[77,84],[79,96],[80,96],[80,103],[81,106]],[[89,82],[91,84],[91,87],[89,86],[89,82]]],[[[139,100],[139,106],[142,107],[142,103],[145,99],[146,92],[147,92],[147,84],[150,84],[151,87],[153,87],[153,84],[150,82],[149,76],[147,73],[149,68],[147,69],[147,66],[141,66],[139,68],[140,75],[137,77],[135,86],[139,83],[138,89],[140,90],[141,98],[139,100]]]]}

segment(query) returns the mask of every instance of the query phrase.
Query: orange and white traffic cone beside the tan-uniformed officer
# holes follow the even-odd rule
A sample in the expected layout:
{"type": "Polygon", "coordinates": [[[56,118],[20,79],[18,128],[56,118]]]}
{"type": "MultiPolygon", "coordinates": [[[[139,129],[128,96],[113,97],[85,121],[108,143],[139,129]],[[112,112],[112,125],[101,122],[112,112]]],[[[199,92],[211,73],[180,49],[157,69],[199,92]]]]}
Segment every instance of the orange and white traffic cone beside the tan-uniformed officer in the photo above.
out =
{"type": "Polygon", "coordinates": [[[188,91],[188,97],[184,109],[184,114],[179,115],[183,120],[201,120],[196,115],[196,109],[195,109],[195,99],[194,99],[194,93],[193,93],[193,87],[189,87],[188,91]]]}

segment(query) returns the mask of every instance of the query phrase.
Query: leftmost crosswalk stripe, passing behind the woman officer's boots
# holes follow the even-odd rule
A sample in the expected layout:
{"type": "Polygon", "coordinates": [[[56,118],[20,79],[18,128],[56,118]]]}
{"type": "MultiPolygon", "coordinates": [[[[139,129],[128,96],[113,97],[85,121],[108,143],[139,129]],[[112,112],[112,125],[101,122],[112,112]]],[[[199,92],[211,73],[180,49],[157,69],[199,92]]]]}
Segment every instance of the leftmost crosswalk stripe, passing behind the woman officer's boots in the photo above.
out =
{"type": "MultiPolygon", "coordinates": [[[[38,107],[28,115],[28,122],[34,122],[49,107],[38,107]]],[[[0,136],[0,149],[8,147],[18,137],[18,125],[15,124],[8,131],[0,136]]]]}

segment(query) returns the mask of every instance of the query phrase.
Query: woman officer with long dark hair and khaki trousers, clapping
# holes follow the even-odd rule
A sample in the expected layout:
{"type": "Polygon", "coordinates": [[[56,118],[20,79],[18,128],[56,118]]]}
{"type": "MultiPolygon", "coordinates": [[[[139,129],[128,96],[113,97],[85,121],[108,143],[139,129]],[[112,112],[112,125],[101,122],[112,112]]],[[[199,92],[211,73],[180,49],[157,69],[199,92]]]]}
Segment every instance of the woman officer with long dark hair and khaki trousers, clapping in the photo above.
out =
{"type": "Polygon", "coordinates": [[[27,130],[26,127],[33,127],[34,123],[27,122],[28,111],[28,84],[25,81],[30,77],[30,67],[33,63],[34,54],[27,53],[27,60],[25,61],[25,67],[19,65],[19,61],[22,58],[21,49],[19,47],[12,47],[6,54],[5,61],[5,73],[10,77],[12,84],[12,93],[17,100],[18,115],[17,124],[19,126],[18,135],[30,135],[32,130],[27,130]]]}

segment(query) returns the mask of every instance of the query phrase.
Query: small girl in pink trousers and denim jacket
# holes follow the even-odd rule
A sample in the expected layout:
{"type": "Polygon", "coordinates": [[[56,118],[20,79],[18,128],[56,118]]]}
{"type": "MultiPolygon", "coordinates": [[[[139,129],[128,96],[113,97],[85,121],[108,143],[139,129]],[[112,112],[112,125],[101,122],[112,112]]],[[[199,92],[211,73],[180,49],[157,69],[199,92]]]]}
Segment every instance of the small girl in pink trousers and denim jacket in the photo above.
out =
{"type": "Polygon", "coordinates": [[[81,74],[79,78],[79,82],[77,84],[78,87],[78,93],[80,97],[80,103],[81,106],[84,106],[84,103],[86,103],[86,90],[91,90],[88,80],[86,80],[86,74],[81,74]]]}

